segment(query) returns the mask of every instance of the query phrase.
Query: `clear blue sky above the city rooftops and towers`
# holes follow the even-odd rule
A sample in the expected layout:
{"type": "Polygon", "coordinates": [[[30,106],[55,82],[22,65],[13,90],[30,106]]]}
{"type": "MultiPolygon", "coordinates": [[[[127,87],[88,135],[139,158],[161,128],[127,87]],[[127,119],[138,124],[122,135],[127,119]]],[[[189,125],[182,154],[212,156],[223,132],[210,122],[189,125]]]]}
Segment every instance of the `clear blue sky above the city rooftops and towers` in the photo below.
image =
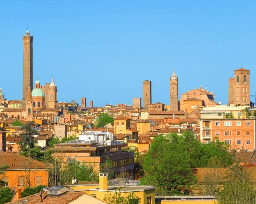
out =
{"type": "Polygon", "coordinates": [[[53,74],[58,101],[132,104],[148,79],[152,102],[169,104],[175,69],[179,95],[201,84],[224,104],[241,64],[254,95],[255,11],[253,0],[1,0],[0,88],[7,99],[22,98],[28,24],[34,81],[51,82],[53,74]]]}

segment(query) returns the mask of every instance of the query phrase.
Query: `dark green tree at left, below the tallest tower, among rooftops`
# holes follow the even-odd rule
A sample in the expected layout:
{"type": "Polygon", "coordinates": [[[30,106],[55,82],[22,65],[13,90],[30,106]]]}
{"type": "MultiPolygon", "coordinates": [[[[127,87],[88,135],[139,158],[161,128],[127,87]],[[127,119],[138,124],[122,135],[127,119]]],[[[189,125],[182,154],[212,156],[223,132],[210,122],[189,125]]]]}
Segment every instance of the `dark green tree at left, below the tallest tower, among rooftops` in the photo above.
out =
{"type": "Polygon", "coordinates": [[[27,147],[34,148],[35,141],[34,135],[37,135],[37,131],[32,128],[32,122],[29,122],[28,125],[23,125],[21,127],[23,133],[20,133],[21,141],[19,142],[20,148],[23,150],[27,147]]]}

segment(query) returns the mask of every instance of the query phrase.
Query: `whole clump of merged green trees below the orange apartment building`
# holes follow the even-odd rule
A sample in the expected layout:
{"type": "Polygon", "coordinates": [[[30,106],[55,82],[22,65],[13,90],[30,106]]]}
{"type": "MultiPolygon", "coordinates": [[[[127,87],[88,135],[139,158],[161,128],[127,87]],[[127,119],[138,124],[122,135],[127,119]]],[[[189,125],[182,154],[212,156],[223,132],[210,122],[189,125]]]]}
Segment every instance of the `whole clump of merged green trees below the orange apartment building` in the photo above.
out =
{"type": "Polygon", "coordinates": [[[234,156],[223,142],[202,144],[188,130],[183,136],[176,133],[158,135],[146,153],[141,184],[156,186],[156,194],[172,195],[189,190],[196,181],[193,168],[228,167],[234,156]]]}

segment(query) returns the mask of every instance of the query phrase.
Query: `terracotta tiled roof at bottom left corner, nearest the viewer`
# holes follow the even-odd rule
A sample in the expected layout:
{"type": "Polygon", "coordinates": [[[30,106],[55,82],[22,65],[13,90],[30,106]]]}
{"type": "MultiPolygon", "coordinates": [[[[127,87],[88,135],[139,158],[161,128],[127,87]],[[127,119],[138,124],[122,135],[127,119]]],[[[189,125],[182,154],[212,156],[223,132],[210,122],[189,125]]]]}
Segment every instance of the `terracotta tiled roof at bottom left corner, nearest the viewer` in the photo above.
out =
{"type": "Polygon", "coordinates": [[[7,204],[20,204],[24,200],[26,201],[26,204],[36,204],[36,203],[43,203],[43,204],[68,204],[71,201],[74,201],[75,199],[79,198],[81,195],[84,195],[83,192],[67,192],[59,196],[50,196],[47,195],[47,192],[42,193],[43,202],[41,202],[41,197],[39,196],[40,193],[36,193],[34,195],[29,195],[24,198],[20,198],[16,201],[11,201],[7,204]]]}

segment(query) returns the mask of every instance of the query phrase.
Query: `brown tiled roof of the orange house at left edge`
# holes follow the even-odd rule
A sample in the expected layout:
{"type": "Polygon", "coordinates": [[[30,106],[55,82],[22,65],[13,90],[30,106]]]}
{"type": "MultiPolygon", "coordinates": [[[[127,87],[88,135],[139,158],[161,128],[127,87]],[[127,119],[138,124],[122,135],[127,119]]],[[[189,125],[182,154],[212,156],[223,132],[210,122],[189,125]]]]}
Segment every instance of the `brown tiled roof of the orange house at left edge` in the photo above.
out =
{"type": "Polygon", "coordinates": [[[19,170],[19,169],[46,169],[46,165],[41,162],[37,161],[35,159],[29,159],[25,156],[20,156],[19,154],[13,154],[13,153],[6,153],[3,151],[0,151],[0,166],[1,165],[9,165],[10,167],[8,170],[19,170]],[[29,167],[28,167],[29,162],[29,167]]]}

